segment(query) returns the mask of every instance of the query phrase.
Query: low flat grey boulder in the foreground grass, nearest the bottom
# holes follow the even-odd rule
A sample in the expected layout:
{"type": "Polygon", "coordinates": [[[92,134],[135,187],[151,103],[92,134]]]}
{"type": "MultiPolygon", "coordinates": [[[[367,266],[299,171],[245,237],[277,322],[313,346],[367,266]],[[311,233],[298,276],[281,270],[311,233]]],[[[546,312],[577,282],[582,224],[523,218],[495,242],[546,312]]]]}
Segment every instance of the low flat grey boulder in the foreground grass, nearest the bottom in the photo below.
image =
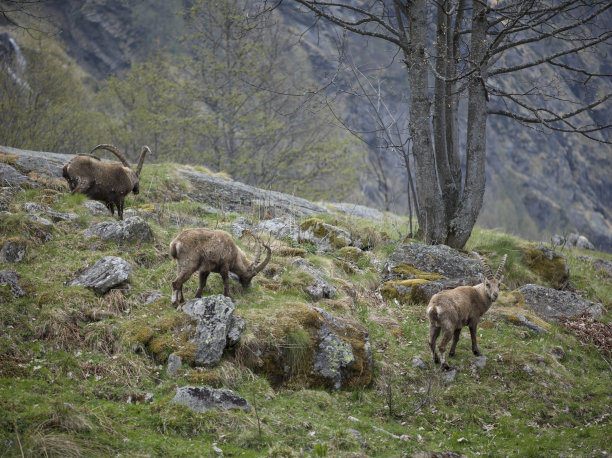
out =
{"type": "Polygon", "coordinates": [[[228,389],[213,389],[207,386],[183,386],[176,389],[173,402],[183,404],[194,412],[203,413],[210,409],[239,409],[249,412],[248,401],[228,389]]]}

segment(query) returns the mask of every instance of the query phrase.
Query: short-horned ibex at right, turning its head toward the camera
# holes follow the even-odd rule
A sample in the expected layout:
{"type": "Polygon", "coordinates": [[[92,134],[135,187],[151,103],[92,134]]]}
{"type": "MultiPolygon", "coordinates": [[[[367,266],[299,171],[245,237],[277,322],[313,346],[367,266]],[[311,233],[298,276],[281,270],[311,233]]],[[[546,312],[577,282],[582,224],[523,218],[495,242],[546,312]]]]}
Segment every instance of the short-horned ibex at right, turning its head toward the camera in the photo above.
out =
{"type": "Polygon", "coordinates": [[[508,255],[504,255],[495,275],[491,268],[477,253],[472,253],[478,259],[485,273],[483,282],[476,286],[459,286],[455,289],[440,291],[429,301],[427,317],[429,318],[429,347],[433,353],[434,363],[439,363],[436,354],[436,340],[442,331],[440,350],[442,369],[448,369],[446,363],[446,345],[453,338],[453,344],[448,352],[455,356],[455,347],[459,341],[461,328],[468,326],[472,337],[472,352],[480,356],[476,343],[476,326],[480,317],[489,310],[491,304],[497,300],[499,285],[503,280],[502,270],[508,255]]]}

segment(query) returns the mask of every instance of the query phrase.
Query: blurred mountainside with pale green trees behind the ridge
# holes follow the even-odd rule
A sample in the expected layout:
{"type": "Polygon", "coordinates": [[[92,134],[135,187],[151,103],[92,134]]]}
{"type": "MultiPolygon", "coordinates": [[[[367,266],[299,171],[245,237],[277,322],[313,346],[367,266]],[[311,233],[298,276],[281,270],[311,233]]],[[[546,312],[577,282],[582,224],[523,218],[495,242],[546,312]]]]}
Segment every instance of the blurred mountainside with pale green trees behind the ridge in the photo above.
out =
{"type": "MultiPolygon", "coordinates": [[[[381,141],[364,97],[375,94],[385,118],[407,123],[401,59],[315,24],[291,2],[265,17],[232,3],[52,0],[20,17],[25,28],[0,22],[0,144],[74,153],[114,143],[132,160],[148,144],[151,161],[406,213],[403,159],[381,141]]],[[[582,59],[612,73],[609,55],[582,59]]],[[[538,72],[506,80],[507,89],[539,79],[581,93],[562,69],[538,72]]],[[[584,116],[609,121],[612,107],[584,116]]],[[[579,232],[612,251],[610,144],[490,116],[486,173],[478,225],[543,241],[579,232]]]]}

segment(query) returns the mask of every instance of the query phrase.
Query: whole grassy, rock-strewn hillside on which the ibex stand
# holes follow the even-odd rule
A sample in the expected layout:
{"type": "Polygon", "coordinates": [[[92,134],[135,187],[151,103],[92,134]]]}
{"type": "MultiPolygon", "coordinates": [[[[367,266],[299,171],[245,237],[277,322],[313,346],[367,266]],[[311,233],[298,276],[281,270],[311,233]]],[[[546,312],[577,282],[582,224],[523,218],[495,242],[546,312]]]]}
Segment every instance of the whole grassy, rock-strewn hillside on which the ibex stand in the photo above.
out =
{"type": "MultiPolygon", "coordinates": [[[[568,279],[565,261],[559,271],[531,256],[533,244],[477,228],[469,250],[494,267],[509,255],[505,289],[478,328],[485,356],[471,354],[464,329],[454,370],[442,372],[414,288],[456,274],[406,264],[407,252],[430,248],[404,240],[402,217],[360,218],[201,167],[145,163],[125,221],[142,230],[113,240],[92,236],[117,227],[104,206],[67,192],[60,176],[70,156],[0,151],[2,455],[612,453],[609,318],[563,325],[532,310],[525,289],[560,282],[558,294],[579,293],[594,301],[587,310],[605,310],[597,303],[612,306],[610,255],[553,253],[566,258],[568,279]],[[249,232],[273,250],[251,288],[231,281],[244,329],[209,367],[198,366],[188,340],[197,276],[182,308],[170,302],[168,245],[186,227],[226,230],[249,257],[249,232]],[[98,293],[70,285],[106,256],[129,265],[127,280],[98,293]],[[329,373],[317,369],[322,335],[333,342],[329,373]],[[250,410],[196,413],[173,401],[189,386],[230,389],[250,410]]],[[[465,254],[442,253],[473,269],[465,254]]],[[[212,274],[204,299],[221,300],[222,289],[212,274]]]]}

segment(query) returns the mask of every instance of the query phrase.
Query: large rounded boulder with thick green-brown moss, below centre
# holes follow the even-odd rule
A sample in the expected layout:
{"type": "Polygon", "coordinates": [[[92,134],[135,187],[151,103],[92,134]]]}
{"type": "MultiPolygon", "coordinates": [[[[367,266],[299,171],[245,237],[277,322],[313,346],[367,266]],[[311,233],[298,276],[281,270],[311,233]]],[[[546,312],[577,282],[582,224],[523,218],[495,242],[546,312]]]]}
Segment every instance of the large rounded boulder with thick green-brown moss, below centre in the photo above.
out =
{"type": "Polygon", "coordinates": [[[329,389],[371,383],[372,349],[363,326],[305,304],[287,304],[268,318],[248,321],[250,337],[236,357],[272,383],[329,389]]]}

